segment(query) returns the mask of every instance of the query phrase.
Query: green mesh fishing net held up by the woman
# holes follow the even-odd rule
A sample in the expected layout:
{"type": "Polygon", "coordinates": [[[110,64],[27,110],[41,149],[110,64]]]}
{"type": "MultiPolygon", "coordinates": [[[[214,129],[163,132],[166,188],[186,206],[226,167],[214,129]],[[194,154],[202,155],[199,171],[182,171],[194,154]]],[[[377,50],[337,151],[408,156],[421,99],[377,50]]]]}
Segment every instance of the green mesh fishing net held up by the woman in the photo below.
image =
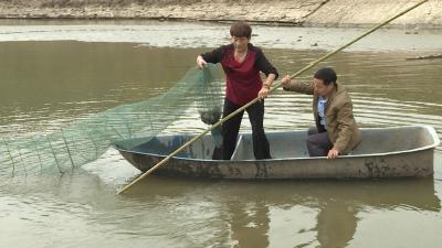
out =
{"type": "MultiPolygon", "coordinates": [[[[201,121],[213,125],[221,117],[223,82],[218,66],[194,67],[157,97],[91,114],[52,133],[27,138],[3,136],[0,175],[66,172],[97,160],[114,142],[130,139],[127,148],[147,142],[179,120],[189,108],[199,112],[201,121]]],[[[220,145],[220,130],[215,129],[212,134],[215,145],[220,145]]]]}

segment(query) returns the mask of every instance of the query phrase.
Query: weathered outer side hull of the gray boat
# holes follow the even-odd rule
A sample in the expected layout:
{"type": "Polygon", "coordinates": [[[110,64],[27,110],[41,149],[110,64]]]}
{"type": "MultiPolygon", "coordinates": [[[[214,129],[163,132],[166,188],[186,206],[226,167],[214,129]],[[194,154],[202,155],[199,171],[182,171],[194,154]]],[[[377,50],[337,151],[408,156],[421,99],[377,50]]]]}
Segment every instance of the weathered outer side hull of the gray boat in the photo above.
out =
{"type": "MultiPolygon", "coordinates": [[[[143,172],[164,159],[126,151],[120,153],[143,172]]],[[[336,160],[198,161],[172,158],[155,174],[231,180],[428,177],[433,175],[433,149],[336,160]]]]}

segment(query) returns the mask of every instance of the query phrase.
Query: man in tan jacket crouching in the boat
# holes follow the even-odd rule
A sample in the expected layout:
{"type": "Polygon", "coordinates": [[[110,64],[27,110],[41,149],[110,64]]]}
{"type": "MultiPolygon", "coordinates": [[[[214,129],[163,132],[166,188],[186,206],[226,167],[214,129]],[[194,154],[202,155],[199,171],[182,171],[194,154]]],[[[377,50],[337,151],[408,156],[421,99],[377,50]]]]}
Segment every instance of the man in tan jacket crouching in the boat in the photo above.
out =
{"type": "Polygon", "coordinates": [[[316,128],[308,130],[307,150],[311,157],[336,159],[349,153],[361,137],[352,115],[351,99],[335,71],[322,68],[311,84],[283,78],[284,90],[313,95],[316,128]]]}

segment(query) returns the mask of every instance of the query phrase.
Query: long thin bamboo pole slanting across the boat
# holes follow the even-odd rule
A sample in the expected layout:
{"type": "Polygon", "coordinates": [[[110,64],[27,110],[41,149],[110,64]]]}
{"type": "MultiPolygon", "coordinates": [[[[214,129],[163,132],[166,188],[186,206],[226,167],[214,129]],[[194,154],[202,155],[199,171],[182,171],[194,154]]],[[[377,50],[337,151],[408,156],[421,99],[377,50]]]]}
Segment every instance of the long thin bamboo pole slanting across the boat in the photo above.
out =
{"type": "MultiPolygon", "coordinates": [[[[291,78],[297,77],[301,74],[305,73],[306,71],[311,69],[312,67],[316,66],[317,64],[319,64],[320,62],[327,60],[328,57],[335,55],[336,53],[347,48],[348,46],[352,45],[354,43],[358,42],[359,40],[361,40],[362,37],[369,35],[370,33],[375,32],[376,30],[387,25],[388,23],[392,22],[393,20],[398,19],[399,17],[410,12],[411,10],[418,8],[419,6],[423,4],[428,2],[428,0],[423,0],[420,1],[413,6],[411,6],[410,8],[401,11],[400,13],[387,19],[386,21],[383,21],[382,23],[373,26],[372,29],[370,29],[369,31],[367,31],[366,33],[359,35],[358,37],[354,39],[352,41],[348,42],[347,44],[340,46],[339,48],[319,57],[318,60],[312,62],[309,65],[305,66],[304,68],[302,68],[301,71],[296,72],[295,74],[291,75],[291,78]]],[[[280,80],[278,83],[275,84],[274,87],[272,87],[269,90],[269,94],[273,93],[276,88],[281,87],[283,83],[280,80]]],[[[179,152],[181,152],[182,150],[185,150],[186,148],[188,148],[191,143],[193,143],[194,141],[201,139],[203,136],[206,136],[208,132],[210,132],[212,129],[219,127],[220,125],[222,125],[223,122],[225,122],[227,120],[231,119],[232,117],[234,117],[235,115],[238,115],[239,112],[243,111],[244,109],[246,109],[249,106],[255,104],[256,101],[259,101],[261,98],[256,97],[255,99],[251,100],[250,103],[245,104],[244,106],[242,106],[241,108],[236,109],[235,111],[233,111],[232,114],[230,114],[229,116],[222,118],[221,120],[219,120],[217,123],[212,125],[210,128],[208,128],[207,130],[204,130],[203,132],[201,132],[199,136],[196,136],[194,138],[192,138],[191,140],[189,140],[188,142],[186,142],[185,144],[182,144],[180,148],[178,148],[177,150],[175,150],[172,153],[170,153],[168,157],[164,158],[161,161],[159,161],[157,164],[155,164],[152,168],[150,168],[148,171],[146,171],[145,173],[143,173],[140,176],[138,176],[136,180],[134,180],[131,183],[127,184],[126,186],[124,186],[122,190],[119,190],[117,192],[117,194],[120,194],[125,191],[127,191],[129,187],[131,187],[133,185],[135,185],[136,183],[138,183],[141,179],[146,177],[147,175],[151,174],[155,170],[157,170],[159,166],[164,165],[166,162],[168,162],[171,158],[173,158],[176,154],[178,154],[179,152]]]]}

